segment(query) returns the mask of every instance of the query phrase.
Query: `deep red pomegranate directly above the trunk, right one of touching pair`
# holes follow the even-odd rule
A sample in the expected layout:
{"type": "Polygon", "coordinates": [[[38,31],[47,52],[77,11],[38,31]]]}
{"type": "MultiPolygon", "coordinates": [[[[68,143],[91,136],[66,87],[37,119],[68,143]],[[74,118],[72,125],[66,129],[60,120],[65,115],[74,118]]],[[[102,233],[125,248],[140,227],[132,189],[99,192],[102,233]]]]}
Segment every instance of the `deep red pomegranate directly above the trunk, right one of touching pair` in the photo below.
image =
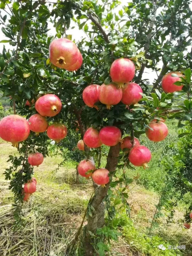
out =
{"type": "Polygon", "coordinates": [[[105,126],[99,132],[99,138],[104,145],[115,146],[118,142],[122,143],[121,131],[116,126],[105,126]]]}

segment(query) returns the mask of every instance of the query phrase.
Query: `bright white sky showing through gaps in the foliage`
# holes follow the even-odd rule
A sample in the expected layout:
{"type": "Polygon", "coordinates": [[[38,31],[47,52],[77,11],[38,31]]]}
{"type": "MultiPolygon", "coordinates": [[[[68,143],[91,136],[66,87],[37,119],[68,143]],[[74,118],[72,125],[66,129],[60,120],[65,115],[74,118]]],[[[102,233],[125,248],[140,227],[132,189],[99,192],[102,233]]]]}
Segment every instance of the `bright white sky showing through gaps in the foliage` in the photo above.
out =
{"type": "MultiPolygon", "coordinates": [[[[56,0],[51,0],[51,2],[56,2],[56,0]]],[[[122,9],[122,6],[125,5],[125,0],[122,0],[120,2],[121,2],[121,4],[116,9],[114,9],[114,12],[116,12],[116,13],[118,13],[119,10],[122,9]]],[[[131,2],[131,0],[129,0],[127,2],[131,2]]],[[[7,10],[7,12],[9,12],[8,7],[5,10],[7,10]]],[[[161,12],[161,10],[158,9],[158,13],[160,13],[160,12],[161,12]]],[[[1,14],[2,14],[2,16],[4,16],[6,14],[7,19],[9,18],[8,14],[4,10],[1,10],[1,14]]],[[[89,23],[90,23],[90,21],[88,21],[88,25],[89,25],[89,23]]],[[[86,37],[86,33],[84,33],[84,31],[82,31],[82,30],[79,30],[78,26],[73,21],[71,21],[71,27],[72,26],[74,26],[75,28],[69,29],[67,31],[67,34],[72,34],[72,36],[75,35],[76,41],[81,40],[82,37],[86,37]]],[[[7,39],[5,37],[5,35],[2,33],[1,28],[2,28],[2,25],[0,25],[0,40],[7,39]]],[[[52,23],[50,23],[50,22],[48,23],[48,28],[50,29],[48,32],[48,35],[56,34],[56,30],[53,27],[52,23]]],[[[5,45],[6,49],[14,48],[14,47],[10,46],[9,43],[0,43],[0,52],[2,52],[3,45],[5,45]]],[[[162,65],[163,65],[163,63],[160,61],[158,64],[158,67],[161,68],[162,65]]],[[[154,82],[154,79],[157,79],[157,73],[155,71],[153,71],[152,69],[145,68],[145,72],[143,73],[142,79],[149,79],[150,84],[152,84],[154,82]]]]}

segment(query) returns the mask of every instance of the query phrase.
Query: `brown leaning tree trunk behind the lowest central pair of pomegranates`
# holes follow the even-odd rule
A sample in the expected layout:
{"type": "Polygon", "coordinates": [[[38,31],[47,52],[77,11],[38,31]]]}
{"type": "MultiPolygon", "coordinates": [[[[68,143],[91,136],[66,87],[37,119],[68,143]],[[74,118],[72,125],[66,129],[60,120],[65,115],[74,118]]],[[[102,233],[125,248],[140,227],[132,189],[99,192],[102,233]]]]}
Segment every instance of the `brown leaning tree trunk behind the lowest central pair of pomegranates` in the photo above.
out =
{"type": "MultiPolygon", "coordinates": [[[[105,166],[109,172],[114,172],[118,163],[120,151],[120,143],[116,146],[110,147],[109,154],[107,157],[107,164],[105,166]]],[[[104,225],[104,204],[102,203],[104,197],[107,195],[110,182],[105,185],[105,187],[99,187],[95,193],[95,197],[91,202],[91,206],[94,209],[92,211],[92,216],[88,216],[88,223],[86,228],[85,236],[85,255],[93,256],[93,247],[91,245],[91,233],[95,233],[97,227],[102,227],[104,225]]]]}

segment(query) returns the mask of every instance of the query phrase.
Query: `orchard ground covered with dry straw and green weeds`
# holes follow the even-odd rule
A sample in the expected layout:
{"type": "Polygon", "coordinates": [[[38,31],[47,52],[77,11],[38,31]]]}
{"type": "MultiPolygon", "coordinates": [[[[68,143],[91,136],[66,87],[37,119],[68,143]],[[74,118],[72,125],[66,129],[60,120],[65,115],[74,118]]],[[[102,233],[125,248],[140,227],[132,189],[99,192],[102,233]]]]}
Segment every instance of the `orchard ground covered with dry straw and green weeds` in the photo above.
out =
{"type": "MultiPolygon", "coordinates": [[[[111,255],[192,255],[192,231],[183,228],[183,216],[187,207],[183,202],[179,202],[179,206],[175,208],[173,223],[167,225],[166,211],[163,211],[156,219],[150,236],[146,236],[156,210],[155,205],[159,200],[158,193],[153,191],[153,184],[156,183],[157,187],[164,185],[162,180],[165,171],[160,164],[162,153],[165,145],[175,143],[178,136],[177,121],[167,120],[166,124],[169,135],[163,142],[155,144],[149,169],[126,169],[127,177],[133,178],[137,174],[140,177],[129,187],[127,201],[131,208],[130,215],[124,208],[120,208],[116,216],[116,225],[123,236],[119,237],[118,243],[112,242],[111,255]],[[163,244],[166,250],[159,250],[159,244],[163,244]],[[180,252],[167,250],[169,245],[185,245],[186,249],[180,252]]],[[[154,147],[154,143],[145,136],[140,137],[140,142],[149,148],[154,147]]],[[[68,255],[67,247],[80,226],[92,194],[91,180],[80,176],[80,182],[76,184],[74,163],[66,162],[56,172],[58,164],[62,161],[61,157],[45,158],[44,162],[34,169],[37,191],[23,205],[24,227],[15,232],[12,230],[13,194],[8,190],[9,182],[4,180],[3,172],[9,167],[9,162],[6,162],[8,155],[18,153],[10,143],[2,140],[0,143],[0,255],[68,255]]],[[[103,159],[101,166],[104,166],[103,159]]],[[[121,204],[117,207],[121,207],[121,204]]],[[[80,244],[77,244],[76,255],[83,255],[79,248],[80,244]]]]}

